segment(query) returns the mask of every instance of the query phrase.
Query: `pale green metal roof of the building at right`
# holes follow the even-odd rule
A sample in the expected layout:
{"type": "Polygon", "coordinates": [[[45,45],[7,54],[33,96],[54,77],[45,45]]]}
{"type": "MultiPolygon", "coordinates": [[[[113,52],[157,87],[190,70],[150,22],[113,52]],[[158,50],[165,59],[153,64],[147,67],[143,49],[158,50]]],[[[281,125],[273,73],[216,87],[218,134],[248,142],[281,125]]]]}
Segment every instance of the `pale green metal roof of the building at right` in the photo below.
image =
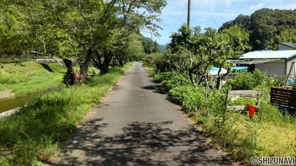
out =
{"type": "Polygon", "coordinates": [[[263,58],[291,58],[296,56],[296,50],[281,51],[253,51],[245,53],[240,59],[263,59],[263,58]]]}

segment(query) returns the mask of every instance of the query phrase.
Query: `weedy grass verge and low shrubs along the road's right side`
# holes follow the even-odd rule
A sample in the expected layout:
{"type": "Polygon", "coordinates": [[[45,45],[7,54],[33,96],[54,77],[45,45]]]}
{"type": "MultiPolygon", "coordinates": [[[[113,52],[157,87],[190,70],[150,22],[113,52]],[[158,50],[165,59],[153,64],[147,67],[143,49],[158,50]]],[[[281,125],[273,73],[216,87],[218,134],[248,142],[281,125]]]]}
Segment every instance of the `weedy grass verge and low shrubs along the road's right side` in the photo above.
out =
{"type": "Polygon", "coordinates": [[[157,73],[153,68],[147,69],[171,99],[182,106],[191,122],[208,136],[208,142],[222,149],[235,164],[251,165],[250,159],[254,156],[296,156],[296,122],[279,116],[282,112],[268,100],[261,100],[260,108],[279,115],[259,109],[249,119],[248,111],[226,109],[226,96],[214,89],[208,89],[205,104],[205,87],[193,87],[182,73],[157,73]]]}

